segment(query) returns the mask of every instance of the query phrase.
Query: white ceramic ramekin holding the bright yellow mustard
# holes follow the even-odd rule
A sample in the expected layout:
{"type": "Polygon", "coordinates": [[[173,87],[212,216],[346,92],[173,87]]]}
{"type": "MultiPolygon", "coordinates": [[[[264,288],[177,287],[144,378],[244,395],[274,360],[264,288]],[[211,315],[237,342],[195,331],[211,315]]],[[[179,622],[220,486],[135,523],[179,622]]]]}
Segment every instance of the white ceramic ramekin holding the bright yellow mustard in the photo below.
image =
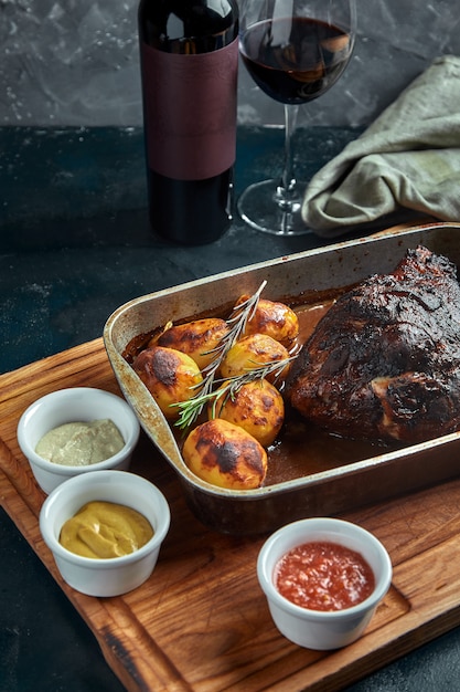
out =
{"type": "Polygon", "coordinates": [[[63,579],[88,596],[118,596],[143,584],[157,564],[169,531],[170,510],[156,485],[126,471],[94,471],[61,483],[44,501],[40,530],[63,579]],[[82,557],[60,543],[64,522],[87,502],[103,501],[137,510],[153,527],[153,536],[138,551],[107,559],[82,557]]]}

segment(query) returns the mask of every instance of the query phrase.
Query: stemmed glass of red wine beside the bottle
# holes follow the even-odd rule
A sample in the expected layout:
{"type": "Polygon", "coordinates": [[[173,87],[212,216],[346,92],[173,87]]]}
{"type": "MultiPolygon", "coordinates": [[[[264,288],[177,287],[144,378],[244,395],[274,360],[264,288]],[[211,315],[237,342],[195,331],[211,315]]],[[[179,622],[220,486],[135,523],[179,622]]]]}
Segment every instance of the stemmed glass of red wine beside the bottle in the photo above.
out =
{"type": "Polygon", "coordinates": [[[345,70],[355,36],[355,0],[242,0],[239,51],[255,83],[285,104],[285,169],[238,200],[249,226],[276,235],[310,232],[300,210],[291,139],[300,104],[318,98],[345,70]]]}

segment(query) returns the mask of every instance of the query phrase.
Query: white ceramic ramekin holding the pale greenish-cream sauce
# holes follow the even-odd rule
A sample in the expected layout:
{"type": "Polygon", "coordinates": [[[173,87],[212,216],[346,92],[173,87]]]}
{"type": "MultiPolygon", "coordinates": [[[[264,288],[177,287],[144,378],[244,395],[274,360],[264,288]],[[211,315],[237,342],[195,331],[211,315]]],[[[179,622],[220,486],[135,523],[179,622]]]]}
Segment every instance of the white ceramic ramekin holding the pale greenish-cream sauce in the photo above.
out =
{"type": "Polygon", "coordinates": [[[125,399],[92,387],[60,389],[45,395],[22,413],[18,423],[19,445],[45,493],[51,493],[60,483],[75,475],[101,469],[126,471],[139,433],[139,421],[125,399]],[[125,440],[125,447],[109,459],[87,466],[67,466],[43,459],[35,452],[39,440],[57,426],[106,418],[117,426],[125,440]]]}

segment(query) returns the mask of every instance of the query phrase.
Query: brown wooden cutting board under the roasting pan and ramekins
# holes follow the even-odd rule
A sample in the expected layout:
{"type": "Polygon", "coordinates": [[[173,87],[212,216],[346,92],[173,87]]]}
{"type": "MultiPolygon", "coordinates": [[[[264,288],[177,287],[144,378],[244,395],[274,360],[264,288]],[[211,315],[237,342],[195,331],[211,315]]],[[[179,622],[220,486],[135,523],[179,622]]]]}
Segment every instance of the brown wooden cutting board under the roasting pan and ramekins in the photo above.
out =
{"type": "Polygon", "coordinates": [[[278,633],[256,578],[265,539],[208,531],[189,511],[173,471],[141,436],[131,471],[156,483],[172,514],[150,579],[117,598],[74,591],[57,574],[38,523],[43,493],[15,437],[22,411],[64,387],[118,392],[101,339],[0,376],[0,497],[94,631],[128,690],[339,690],[460,623],[460,480],[344,515],[372,531],[394,565],[392,588],[366,633],[334,652],[278,633]]]}

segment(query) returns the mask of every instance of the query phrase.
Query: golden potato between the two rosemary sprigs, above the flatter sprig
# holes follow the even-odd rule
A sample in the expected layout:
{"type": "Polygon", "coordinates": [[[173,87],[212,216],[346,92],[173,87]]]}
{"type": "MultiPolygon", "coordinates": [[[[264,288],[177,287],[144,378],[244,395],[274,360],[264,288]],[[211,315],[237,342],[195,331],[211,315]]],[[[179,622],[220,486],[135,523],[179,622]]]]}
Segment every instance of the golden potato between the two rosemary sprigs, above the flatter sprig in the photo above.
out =
{"type": "MultiPolygon", "coordinates": [[[[266,334],[250,334],[236,342],[225,354],[221,363],[220,374],[223,379],[228,379],[245,375],[248,370],[254,370],[261,365],[285,358],[289,358],[286,346],[266,334]]],[[[280,377],[285,378],[288,370],[289,365],[284,368],[280,377]]],[[[272,382],[275,375],[267,375],[267,379],[272,382]]]]}

